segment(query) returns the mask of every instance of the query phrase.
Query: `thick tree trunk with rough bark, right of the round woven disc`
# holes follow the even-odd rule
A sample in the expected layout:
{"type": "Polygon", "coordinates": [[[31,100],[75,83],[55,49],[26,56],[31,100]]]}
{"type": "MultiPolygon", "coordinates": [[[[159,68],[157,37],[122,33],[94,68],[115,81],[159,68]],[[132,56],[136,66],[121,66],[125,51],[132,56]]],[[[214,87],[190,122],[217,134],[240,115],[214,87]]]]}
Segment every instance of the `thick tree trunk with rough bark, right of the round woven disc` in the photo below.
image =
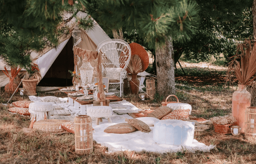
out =
{"type": "Polygon", "coordinates": [[[156,43],[157,92],[159,96],[175,95],[174,57],[172,37],[166,37],[165,44],[156,43]]]}

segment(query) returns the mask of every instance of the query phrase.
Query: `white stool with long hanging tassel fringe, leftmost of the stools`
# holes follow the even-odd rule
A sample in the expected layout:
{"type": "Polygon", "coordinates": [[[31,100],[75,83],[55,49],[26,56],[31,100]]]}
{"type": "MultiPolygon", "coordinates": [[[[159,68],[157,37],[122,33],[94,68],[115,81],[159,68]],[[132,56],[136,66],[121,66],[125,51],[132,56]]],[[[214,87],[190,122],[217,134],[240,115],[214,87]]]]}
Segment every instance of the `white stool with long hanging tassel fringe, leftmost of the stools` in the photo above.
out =
{"type": "Polygon", "coordinates": [[[29,113],[32,114],[31,120],[44,120],[44,117],[50,119],[49,112],[53,111],[54,107],[51,103],[35,102],[29,104],[29,113]]]}

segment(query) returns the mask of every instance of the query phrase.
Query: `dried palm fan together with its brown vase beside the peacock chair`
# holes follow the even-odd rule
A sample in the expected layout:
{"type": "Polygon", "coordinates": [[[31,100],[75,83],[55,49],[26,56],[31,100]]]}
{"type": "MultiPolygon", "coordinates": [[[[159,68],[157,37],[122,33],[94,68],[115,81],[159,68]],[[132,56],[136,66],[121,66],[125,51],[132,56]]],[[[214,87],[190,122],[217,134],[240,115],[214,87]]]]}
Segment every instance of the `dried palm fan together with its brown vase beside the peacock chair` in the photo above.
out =
{"type": "Polygon", "coordinates": [[[140,81],[137,79],[137,74],[143,72],[142,62],[139,55],[132,55],[127,66],[127,72],[132,74],[132,79],[129,81],[132,94],[139,93],[140,81]]]}

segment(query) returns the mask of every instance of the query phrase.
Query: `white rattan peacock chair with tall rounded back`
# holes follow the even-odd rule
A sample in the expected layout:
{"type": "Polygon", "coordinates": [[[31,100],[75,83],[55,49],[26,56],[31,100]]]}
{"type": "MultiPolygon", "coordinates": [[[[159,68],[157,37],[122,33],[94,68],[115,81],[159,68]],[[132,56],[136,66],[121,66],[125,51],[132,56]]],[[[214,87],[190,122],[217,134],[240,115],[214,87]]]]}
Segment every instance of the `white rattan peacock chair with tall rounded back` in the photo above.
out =
{"type": "Polygon", "coordinates": [[[123,80],[127,77],[126,68],[131,59],[131,48],[120,39],[102,41],[96,51],[102,54],[103,76],[109,77],[109,92],[116,96],[123,94],[123,80]]]}

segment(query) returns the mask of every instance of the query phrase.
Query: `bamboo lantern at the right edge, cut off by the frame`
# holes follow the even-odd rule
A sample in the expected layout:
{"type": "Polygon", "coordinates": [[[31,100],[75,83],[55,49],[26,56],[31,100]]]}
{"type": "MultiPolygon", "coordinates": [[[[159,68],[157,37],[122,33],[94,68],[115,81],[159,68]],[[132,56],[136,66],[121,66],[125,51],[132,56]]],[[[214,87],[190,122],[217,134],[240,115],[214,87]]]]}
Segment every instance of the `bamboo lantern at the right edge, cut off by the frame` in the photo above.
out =
{"type": "Polygon", "coordinates": [[[256,137],[256,107],[245,109],[245,136],[256,137]]]}

